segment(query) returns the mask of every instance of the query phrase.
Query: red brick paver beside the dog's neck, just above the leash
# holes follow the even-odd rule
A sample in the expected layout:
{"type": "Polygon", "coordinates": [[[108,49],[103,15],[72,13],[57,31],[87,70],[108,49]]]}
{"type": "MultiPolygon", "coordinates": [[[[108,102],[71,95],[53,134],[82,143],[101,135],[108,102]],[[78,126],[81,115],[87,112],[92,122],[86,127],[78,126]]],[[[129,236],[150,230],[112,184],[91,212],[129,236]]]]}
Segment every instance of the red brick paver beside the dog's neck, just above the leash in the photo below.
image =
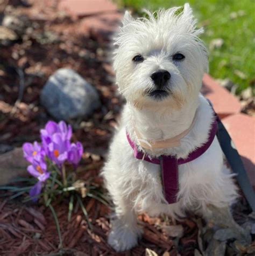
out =
{"type": "Polygon", "coordinates": [[[208,74],[204,74],[203,77],[202,93],[213,103],[219,117],[223,118],[240,112],[241,105],[238,99],[208,74]]]}

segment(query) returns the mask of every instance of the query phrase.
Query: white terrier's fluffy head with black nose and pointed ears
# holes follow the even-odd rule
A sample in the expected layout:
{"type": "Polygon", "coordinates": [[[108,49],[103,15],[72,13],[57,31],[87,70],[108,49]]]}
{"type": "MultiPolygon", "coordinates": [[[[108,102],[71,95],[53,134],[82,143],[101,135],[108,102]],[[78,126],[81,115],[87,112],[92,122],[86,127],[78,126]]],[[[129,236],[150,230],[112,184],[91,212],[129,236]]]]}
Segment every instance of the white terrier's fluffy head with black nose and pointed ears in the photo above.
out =
{"type": "Polygon", "coordinates": [[[208,70],[192,9],[171,8],[148,18],[125,12],[115,37],[114,68],[119,91],[134,105],[181,107],[199,94],[208,70]]]}

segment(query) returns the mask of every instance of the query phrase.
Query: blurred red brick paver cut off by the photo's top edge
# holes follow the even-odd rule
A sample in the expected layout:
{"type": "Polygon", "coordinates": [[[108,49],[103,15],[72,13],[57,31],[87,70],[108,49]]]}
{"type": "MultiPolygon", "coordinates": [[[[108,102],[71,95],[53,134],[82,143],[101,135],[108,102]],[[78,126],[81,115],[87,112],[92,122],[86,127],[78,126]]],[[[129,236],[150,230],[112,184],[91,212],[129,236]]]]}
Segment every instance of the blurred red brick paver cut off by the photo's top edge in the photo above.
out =
{"type": "Polygon", "coordinates": [[[117,11],[117,6],[110,0],[61,0],[58,8],[77,17],[117,11]]]}

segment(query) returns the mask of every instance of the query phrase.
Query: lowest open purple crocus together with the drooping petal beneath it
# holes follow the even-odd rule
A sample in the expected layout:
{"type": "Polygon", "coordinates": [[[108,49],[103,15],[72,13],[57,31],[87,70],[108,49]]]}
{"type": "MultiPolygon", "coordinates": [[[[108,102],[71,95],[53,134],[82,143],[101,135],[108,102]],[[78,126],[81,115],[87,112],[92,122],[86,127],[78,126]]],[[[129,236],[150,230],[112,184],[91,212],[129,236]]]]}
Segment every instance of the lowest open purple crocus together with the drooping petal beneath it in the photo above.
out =
{"type": "Polygon", "coordinates": [[[47,164],[44,160],[36,160],[34,159],[32,164],[27,167],[27,171],[38,179],[36,185],[30,190],[30,196],[33,197],[33,201],[36,202],[38,198],[37,195],[40,194],[43,183],[49,178],[50,173],[47,172],[47,164]]]}

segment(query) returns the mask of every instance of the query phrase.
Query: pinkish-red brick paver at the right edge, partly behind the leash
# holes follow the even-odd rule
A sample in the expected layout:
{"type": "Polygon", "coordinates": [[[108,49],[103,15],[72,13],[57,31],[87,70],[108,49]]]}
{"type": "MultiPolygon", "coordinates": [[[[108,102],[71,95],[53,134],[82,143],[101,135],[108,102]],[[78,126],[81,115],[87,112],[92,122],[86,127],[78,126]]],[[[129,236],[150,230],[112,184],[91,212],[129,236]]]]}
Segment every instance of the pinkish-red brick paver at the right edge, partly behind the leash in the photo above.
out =
{"type": "Polygon", "coordinates": [[[245,114],[231,115],[222,120],[228,130],[255,189],[255,118],[245,114]]]}

